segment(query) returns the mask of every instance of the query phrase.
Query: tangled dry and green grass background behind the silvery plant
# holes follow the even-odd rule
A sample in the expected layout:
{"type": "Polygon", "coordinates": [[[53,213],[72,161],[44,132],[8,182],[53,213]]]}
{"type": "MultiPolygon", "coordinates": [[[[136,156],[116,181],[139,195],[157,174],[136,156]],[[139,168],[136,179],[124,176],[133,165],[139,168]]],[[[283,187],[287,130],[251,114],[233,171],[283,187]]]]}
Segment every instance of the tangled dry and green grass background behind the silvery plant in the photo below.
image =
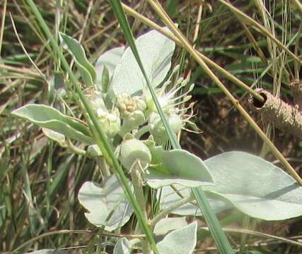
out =
{"type": "MultiPolygon", "coordinates": [[[[91,63],[95,63],[106,50],[125,43],[108,1],[35,2],[54,35],[62,31],[79,40],[91,63]]],[[[285,55],[277,59],[284,53],[276,49],[267,37],[249,30],[263,53],[261,57],[248,39],[240,20],[218,1],[170,0],[161,3],[200,52],[245,83],[252,85],[272,63],[270,71],[254,84],[255,87],[264,87],[280,95],[286,102],[292,102],[289,83],[295,78],[294,63],[285,55]],[[196,30],[198,25],[199,29],[196,30]]],[[[301,29],[301,9],[295,1],[260,3],[263,4],[259,0],[232,1],[234,6],[270,29],[284,44],[289,42],[301,29]]],[[[125,4],[161,24],[145,1],[127,1],[125,4]]],[[[88,224],[76,198],[84,181],[100,181],[97,164],[81,155],[71,154],[47,140],[37,126],[10,115],[13,109],[23,104],[45,103],[52,104],[66,114],[72,111],[81,116],[81,111],[74,103],[77,98],[69,83],[64,82],[60,63],[53,61],[54,52],[25,1],[2,0],[0,10],[0,252],[14,250],[35,237],[35,241],[18,252],[24,253],[34,248],[71,248],[71,253],[94,253],[95,245],[102,250],[102,245],[111,244],[110,239],[106,242],[106,238],[88,224]],[[33,59],[35,66],[28,56],[33,59]],[[54,89],[64,93],[64,99],[54,98],[50,92],[55,78],[62,79],[62,87],[54,89]],[[86,229],[92,231],[74,231],[86,229]],[[39,237],[41,234],[50,236],[39,237]]],[[[129,20],[135,35],[148,30],[138,20],[129,20]]],[[[289,49],[301,55],[299,40],[296,39],[289,49]]],[[[181,72],[190,75],[191,82],[196,85],[192,92],[197,102],[194,122],[202,131],[199,135],[182,133],[184,149],[202,159],[230,150],[244,150],[261,154],[274,162],[274,157],[262,145],[262,140],[232,108],[231,102],[179,47],[173,63],[179,63],[181,72]]],[[[248,109],[245,92],[228,80],[222,80],[248,109]]],[[[302,144],[299,140],[274,130],[273,126],[264,126],[259,116],[250,113],[260,126],[268,130],[275,145],[294,168],[301,171],[302,144]]],[[[235,210],[219,214],[219,217],[224,218],[224,225],[239,229],[244,227],[242,214],[235,210]]],[[[249,229],[252,231],[302,239],[301,219],[250,221],[249,229]]],[[[124,233],[130,233],[130,227],[126,226],[124,233]]],[[[242,234],[229,235],[231,243],[238,246],[242,234]]],[[[208,236],[200,234],[202,241],[198,253],[216,253],[214,243],[208,236]]],[[[302,253],[302,248],[257,235],[249,235],[247,244],[249,253],[302,253]]]]}

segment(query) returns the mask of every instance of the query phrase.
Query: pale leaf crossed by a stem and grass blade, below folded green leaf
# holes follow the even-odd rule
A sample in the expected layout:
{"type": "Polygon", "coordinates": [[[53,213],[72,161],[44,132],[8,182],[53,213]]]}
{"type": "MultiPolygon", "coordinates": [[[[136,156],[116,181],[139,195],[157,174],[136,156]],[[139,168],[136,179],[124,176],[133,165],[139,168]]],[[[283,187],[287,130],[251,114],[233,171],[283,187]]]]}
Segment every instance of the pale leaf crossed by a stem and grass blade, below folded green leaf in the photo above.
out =
{"type": "MultiPolygon", "coordinates": [[[[170,205],[174,205],[175,202],[180,201],[182,197],[185,198],[191,193],[190,188],[185,188],[184,186],[180,186],[178,184],[173,185],[173,187],[178,190],[178,193],[180,193],[181,196],[178,195],[178,193],[176,193],[175,190],[173,190],[173,188],[170,186],[165,186],[161,189],[161,191],[158,191],[158,199],[160,199],[161,210],[170,207],[170,205]]],[[[213,212],[221,212],[232,207],[229,202],[221,200],[221,198],[216,198],[214,195],[209,195],[209,193],[207,193],[207,198],[213,212]]],[[[171,213],[179,215],[202,216],[202,212],[199,210],[199,207],[194,205],[192,202],[188,202],[187,204],[176,208],[171,213]]]]}

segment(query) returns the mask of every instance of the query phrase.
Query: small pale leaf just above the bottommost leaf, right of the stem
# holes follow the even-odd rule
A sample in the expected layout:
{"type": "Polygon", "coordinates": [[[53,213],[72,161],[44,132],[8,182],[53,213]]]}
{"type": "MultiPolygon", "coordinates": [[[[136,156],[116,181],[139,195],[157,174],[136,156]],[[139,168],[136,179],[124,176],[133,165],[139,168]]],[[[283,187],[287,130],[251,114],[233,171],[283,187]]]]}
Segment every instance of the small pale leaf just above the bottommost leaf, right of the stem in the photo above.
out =
{"type": "Polygon", "coordinates": [[[180,229],[187,226],[185,217],[163,218],[154,226],[153,233],[156,235],[167,234],[168,231],[180,229]]]}

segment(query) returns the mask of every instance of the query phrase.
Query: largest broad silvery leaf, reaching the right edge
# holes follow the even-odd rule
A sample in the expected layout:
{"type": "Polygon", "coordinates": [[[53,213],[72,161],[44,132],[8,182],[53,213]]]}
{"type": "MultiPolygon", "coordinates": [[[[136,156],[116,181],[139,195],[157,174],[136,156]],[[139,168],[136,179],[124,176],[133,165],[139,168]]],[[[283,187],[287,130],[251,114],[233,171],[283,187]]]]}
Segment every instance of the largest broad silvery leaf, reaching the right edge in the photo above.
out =
{"type": "Polygon", "coordinates": [[[302,215],[302,187],[274,164],[245,152],[204,161],[215,186],[207,188],[251,217],[281,220],[302,215]]]}

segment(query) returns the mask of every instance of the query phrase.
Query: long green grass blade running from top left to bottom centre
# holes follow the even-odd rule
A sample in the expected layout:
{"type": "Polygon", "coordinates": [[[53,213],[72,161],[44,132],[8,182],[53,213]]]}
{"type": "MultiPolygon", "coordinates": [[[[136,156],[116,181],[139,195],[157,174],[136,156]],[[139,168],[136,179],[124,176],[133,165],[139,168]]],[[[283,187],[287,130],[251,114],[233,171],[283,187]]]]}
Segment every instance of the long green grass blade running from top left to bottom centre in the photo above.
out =
{"type": "Polygon", "coordinates": [[[124,171],[122,167],[120,166],[119,162],[117,161],[117,158],[114,155],[114,152],[112,150],[112,147],[110,143],[107,140],[107,137],[103,133],[102,128],[100,127],[100,124],[98,123],[98,119],[95,115],[95,111],[93,111],[90,103],[86,99],[85,95],[83,95],[83,92],[81,90],[81,87],[79,85],[79,81],[76,79],[76,76],[74,73],[71,71],[71,68],[69,67],[69,63],[66,61],[61,48],[57,44],[57,41],[54,39],[52,32],[48,28],[47,24],[45,23],[45,20],[42,18],[40,11],[37,9],[37,6],[33,2],[33,0],[26,0],[30,8],[32,9],[33,13],[35,14],[35,17],[37,18],[38,22],[40,23],[42,30],[45,32],[47,35],[48,39],[50,40],[52,47],[54,51],[57,53],[57,56],[59,57],[60,61],[62,62],[62,66],[66,70],[66,72],[69,74],[69,77],[71,79],[71,82],[74,84],[74,87],[76,89],[76,92],[79,94],[79,98],[81,99],[81,102],[83,103],[83,106],[85,107],[88,116],[90,117],[92,123],[93,123],[93,128],[92,130],[95,133],[96,136],[96,142],[98,146],[100,147],[100,150],[102,150],[103,155],[107,154],[109,158],[107,157],[106,159],[112,161],[113,166],[115,167],[117,174],[120,176],[120,180],[124,184],[125,192],[127,194],[127,197],[129,198],[129,201],[132,204],[132,207],[134,208],[134,211],[137,214],[137,219],[139,220],[139,223],[141,224],[142,228],[145,231],[145,234],[148,238],[148,241],[151,243],[151,248],[153,249],[154,253],[158,254],[158,250],[156,248],[156,243],[153,239],[151,230],[149,229],[149,226],[146,222],[146,219],[144,219],[144,214],[141,211],[141,208],[139,207],[137,200],[135,199],[132,190],[127,183],[127,177],[124,175],[124,171]]]}

